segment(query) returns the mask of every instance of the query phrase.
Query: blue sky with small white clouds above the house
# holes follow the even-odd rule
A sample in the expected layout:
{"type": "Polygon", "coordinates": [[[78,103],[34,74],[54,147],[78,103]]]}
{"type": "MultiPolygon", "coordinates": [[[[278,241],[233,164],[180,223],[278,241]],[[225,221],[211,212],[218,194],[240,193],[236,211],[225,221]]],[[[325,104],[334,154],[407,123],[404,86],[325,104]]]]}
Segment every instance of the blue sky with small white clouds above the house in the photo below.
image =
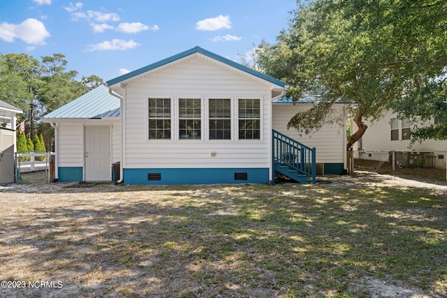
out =
{"type": "Polygon", "coordinates": [[[1,0],[0,53],[61,53],[111,80],[196,45],[240,62],[288,28],[295,0],[1,0]]]}

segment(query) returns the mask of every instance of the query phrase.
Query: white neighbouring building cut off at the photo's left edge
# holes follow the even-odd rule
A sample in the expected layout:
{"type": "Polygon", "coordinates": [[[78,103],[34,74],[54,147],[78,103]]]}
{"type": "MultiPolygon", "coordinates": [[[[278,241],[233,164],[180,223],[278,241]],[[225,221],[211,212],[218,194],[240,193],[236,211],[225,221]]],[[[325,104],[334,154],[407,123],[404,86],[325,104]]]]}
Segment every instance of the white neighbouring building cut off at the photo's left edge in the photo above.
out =
{"type": "Polygon", "coordinates": [[[16,114],[22,110],[0,100],[0,184],[14,182],[16,114]]]}

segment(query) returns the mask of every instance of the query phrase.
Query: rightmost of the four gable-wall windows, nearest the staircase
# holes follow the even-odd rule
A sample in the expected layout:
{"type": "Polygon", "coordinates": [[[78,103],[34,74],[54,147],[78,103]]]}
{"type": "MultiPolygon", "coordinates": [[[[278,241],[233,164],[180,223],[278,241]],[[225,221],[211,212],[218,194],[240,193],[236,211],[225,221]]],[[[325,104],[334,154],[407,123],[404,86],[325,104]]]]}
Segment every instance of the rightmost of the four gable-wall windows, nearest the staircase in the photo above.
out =
{"type": "Polygon", "coordinates": [[[239,99],[239,140],[261,139],[261,100],[239,99]]]}

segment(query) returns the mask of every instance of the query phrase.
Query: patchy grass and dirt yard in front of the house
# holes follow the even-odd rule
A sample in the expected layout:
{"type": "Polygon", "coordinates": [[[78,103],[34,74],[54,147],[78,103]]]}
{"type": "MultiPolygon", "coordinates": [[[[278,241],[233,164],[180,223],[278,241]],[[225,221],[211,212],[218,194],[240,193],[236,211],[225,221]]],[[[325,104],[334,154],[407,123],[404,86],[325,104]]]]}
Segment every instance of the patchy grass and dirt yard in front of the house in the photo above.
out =
{"type": "Polygon", "coordinates": [[[0,297],[447,297],[447,186],[0,186],[0,297]]]}

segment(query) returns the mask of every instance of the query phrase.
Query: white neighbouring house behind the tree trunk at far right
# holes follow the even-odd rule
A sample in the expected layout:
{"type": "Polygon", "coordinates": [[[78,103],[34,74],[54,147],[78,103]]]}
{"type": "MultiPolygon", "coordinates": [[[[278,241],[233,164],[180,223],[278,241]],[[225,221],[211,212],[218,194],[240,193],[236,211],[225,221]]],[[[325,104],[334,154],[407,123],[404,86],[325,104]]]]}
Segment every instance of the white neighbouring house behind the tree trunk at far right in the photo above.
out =
{"type": "MultiPolygon", "coordinates": [[[[362,158],[379,160],[379,156],[383,156],[381,152],[390,151],[425,152],[427,156],[434,156],[434,162],[427,165],[446,168],[447,141],[425,140],[411,144],[413,124],[408,119],[399,119],[393,112],[384,112],[379,121],[365,121],[365,124],[367,131],[353,148],[354,151],[368,152],[368,156],[362,158]]],[[[385,158],[388,159],[388,155],[385,158]]]]}

